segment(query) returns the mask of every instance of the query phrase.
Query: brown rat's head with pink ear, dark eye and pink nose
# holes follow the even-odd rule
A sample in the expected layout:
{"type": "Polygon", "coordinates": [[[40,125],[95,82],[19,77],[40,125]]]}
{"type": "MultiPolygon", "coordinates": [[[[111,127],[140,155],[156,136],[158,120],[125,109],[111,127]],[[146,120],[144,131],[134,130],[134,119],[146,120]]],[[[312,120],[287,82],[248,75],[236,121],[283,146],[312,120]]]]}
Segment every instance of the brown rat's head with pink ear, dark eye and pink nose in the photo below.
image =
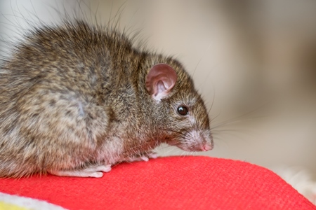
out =
{"type": "Polygon", "coordinates": [[[190,76],[178,64],[155,64],[146,77],[159,137],[184,151],[209,151],[213,138],[209,116],[190,76]]]}

